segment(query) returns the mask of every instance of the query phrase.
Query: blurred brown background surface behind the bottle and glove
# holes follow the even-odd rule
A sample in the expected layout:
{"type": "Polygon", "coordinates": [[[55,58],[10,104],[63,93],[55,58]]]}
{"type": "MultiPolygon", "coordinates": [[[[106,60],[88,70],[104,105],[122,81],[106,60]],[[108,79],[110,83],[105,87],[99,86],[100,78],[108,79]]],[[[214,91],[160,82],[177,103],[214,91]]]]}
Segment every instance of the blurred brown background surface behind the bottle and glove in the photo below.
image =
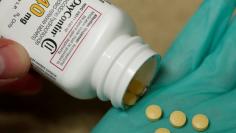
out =
{"type": "MultiPolygon", "coordinates": [[[[201,1],[113,0],[135,21],[144,40],[164,55],[201,1]]],[[[32,96],[0,96],[1,133],[88,133],[110,107],[74,99],[45,81],[32,96]]]]}

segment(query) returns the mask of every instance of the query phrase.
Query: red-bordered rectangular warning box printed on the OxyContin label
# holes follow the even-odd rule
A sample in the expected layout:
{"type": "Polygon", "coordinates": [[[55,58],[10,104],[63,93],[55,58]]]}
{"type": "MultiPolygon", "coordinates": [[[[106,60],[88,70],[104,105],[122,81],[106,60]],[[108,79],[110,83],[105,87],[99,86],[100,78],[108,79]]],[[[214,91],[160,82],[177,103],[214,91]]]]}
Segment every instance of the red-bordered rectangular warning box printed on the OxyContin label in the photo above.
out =
{"type": "Polygon", "coordinates": [[[79,48],[86,35],[100,18],[101,13],[88,6],[79,16],[62,41],[60,47],[51,59],[51,63],[60,70],[64,70],[73,54],[79,48]]]}

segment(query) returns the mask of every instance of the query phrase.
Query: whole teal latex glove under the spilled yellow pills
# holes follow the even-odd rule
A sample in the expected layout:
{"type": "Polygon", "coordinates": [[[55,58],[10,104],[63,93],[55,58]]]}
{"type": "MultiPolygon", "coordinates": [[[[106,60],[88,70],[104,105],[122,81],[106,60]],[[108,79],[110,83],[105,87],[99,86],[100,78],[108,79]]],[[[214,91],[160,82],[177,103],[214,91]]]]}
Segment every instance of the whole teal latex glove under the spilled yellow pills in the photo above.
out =
{"type": "Polygon", "coordinates": [[[236,0],[205,0],[161,62],[148,94],[127,111],[112,108],[94,133],[194,133],[193,115],[206,114],[207,133],[236,133],[236,0]],[[158,104],[160,121],[149,122],[145,108],[158,104]],[[169,115],[182,110],[188,123],[173,128],[169,115]]]}

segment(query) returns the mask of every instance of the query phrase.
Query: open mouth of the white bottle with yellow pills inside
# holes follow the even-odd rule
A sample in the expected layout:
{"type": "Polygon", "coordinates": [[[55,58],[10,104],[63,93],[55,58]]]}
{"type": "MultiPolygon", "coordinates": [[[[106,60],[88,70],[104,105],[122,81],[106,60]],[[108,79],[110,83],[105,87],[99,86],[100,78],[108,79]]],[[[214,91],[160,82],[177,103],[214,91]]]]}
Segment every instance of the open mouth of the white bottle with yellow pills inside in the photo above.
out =
{"type": "Polygon", "coordinates": [[[147,89],[155,76],[157,63],[156,58],[151,57],[136,72],[123,96],[124,108],[135,105],[136,102],[147,92],[147,89]]]}

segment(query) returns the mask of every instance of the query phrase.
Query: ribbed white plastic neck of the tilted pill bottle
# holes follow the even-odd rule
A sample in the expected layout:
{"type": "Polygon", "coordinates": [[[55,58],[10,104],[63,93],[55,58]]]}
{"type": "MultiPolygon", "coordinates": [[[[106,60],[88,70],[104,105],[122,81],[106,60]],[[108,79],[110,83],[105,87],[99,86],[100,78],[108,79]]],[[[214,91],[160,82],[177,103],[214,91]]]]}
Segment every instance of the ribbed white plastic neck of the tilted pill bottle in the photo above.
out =
{"type": "MultiPolygon", "coordinates": [[[[122,35],[116,38],[94,67],[92,86],[98,98],[103,101],[110,100],[114,107],[124,108],[124,95],[132,79],[140,68],[150,60],[153,61],[156,55],[140,37],[122,35]]],[[[144,76],[148,79],[140,79],[143,87],[146,87],[154,77],[156,61],[151,65],[152,69],[145,70],[145,73],[150,75],[144,76]]]]}

